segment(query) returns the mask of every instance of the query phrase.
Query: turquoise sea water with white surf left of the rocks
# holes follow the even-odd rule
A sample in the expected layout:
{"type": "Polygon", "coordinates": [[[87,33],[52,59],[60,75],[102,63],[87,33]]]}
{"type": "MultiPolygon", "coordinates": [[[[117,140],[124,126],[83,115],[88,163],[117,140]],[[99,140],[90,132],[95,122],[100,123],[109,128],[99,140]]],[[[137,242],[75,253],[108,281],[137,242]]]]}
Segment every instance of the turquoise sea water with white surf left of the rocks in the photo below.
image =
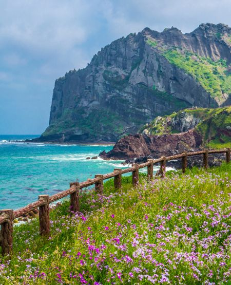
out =
{"type": "MultiPolygon", "coordinates": [[[[112,146],[24,143],[37,136],[0,136],[0,209],[16,209],[123,166],[122,161],[86,160],[112,146]]],[[[146,171],[146,169],[142,169],[146,171]]]]}

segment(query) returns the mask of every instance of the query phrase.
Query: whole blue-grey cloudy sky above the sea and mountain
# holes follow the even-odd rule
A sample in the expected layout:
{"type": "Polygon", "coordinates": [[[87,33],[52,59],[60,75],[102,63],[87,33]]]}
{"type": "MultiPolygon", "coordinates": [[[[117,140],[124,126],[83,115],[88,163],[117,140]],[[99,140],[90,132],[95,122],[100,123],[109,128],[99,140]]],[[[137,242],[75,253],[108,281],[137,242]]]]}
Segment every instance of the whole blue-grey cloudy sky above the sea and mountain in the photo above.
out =
{"type": "Polygon", "coordinates": [[[0,134],[41,134],[56,78],[144,27],[231,26],[230,0],[0,0],[0,134]]]}

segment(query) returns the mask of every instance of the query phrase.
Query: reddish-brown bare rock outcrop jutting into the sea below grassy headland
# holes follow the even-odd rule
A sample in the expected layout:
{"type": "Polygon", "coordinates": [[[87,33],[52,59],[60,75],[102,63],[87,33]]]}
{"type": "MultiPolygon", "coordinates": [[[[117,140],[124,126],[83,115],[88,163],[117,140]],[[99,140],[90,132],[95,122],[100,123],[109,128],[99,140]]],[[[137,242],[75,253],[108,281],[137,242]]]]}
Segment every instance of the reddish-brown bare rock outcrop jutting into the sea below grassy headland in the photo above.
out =
{"type": "Polygon", "coordinates": [[[120,139],[108,153],[99,156],[103,159],[158,158],[197,148],[201,143],[202,138],[195,130],[162,136],[129,135],[120,139]]]}

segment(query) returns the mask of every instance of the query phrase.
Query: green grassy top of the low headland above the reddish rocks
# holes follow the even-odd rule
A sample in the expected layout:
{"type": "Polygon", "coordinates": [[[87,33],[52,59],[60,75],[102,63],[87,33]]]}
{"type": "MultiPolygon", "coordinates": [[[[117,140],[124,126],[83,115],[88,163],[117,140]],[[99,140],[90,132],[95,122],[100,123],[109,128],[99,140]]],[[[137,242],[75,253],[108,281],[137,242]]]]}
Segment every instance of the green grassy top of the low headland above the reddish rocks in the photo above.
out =
{"type": "Polygon", "coordinates": [[[150,135],[175,134],[180,130],[175,128],[174,122],[184,123],[185,119],[181,118],[186,117],[198,119],[195,128],[202,135],[205,146],[231,147],[231,106],[216,109],[184,109],[170,116],[157,117],[150,124],[143,126],[140,132],[144,131],[150,135]]]}

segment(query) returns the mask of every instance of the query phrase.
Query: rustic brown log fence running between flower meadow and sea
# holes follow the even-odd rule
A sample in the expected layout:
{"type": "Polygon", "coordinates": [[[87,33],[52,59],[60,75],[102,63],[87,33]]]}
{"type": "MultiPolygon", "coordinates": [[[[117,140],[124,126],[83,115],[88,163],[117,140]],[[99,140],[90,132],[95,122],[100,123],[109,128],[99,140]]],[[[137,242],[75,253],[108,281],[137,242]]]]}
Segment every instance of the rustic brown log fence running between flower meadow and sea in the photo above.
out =
{"type": "Polygon", "coordinates": [[[50,218],[49,212],[50,207],[49,204],[60,200],[64,197],[70,195],[70,210],[71,212],[79,212],[80,211],[80,199],[79,199],[79,191],[82,188],[89,187],[91,185],[95,185],[95,192],[103,193],[103,181],[108,178],[114,177],[114,187],[115,189],[120,189],[122,187],[121,178],[122,174],[132,173],[132,184],[133,186],[137,186],[139,183],[139,169],[147,167],[147,177],[149,180],[153,178],[153,164],[160,162],[160,170],[158,174],[164,178],[166,171],[166,162],[169,160],[175,160],[182,158],[182,172],[185,172],[187,167],[187,157],[195,156],[195,155],[203,155],[203,165],[204,168],[208,167],[208,155],[209,154],[226,154],[226,163],[230,162],[230,148],[219,149],[219,150],[200,150],[194,151],[192,153],[184,153],[169,157],[161,157],[159,159],[148,159],[147,162],[142,164],[132,164],[132,167],[125,169],[115,168],[113,172],[102,175],[95,175],[95,178],[88,179],[84,182],[71,182],[70,188],[62,191],[60,193],[54,194],[52,196],[49,195],[40,195],[38,200],[28,204],[25,207],[22,207],[18,210],[0,210],[0,225],[1,225],[1,234],[0,234],[0,245],[2,247],[2,254],[10,254],[12,253],[13,248],[13,220],[15,218],[21,217],[36,208],[39,208],[39,222],[40,222],[40,234],[41,236],[48,236],[50,234],[50,218]]]}

